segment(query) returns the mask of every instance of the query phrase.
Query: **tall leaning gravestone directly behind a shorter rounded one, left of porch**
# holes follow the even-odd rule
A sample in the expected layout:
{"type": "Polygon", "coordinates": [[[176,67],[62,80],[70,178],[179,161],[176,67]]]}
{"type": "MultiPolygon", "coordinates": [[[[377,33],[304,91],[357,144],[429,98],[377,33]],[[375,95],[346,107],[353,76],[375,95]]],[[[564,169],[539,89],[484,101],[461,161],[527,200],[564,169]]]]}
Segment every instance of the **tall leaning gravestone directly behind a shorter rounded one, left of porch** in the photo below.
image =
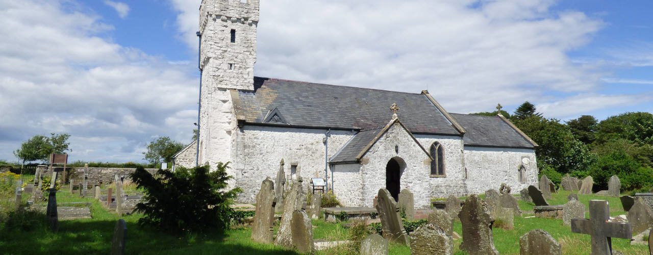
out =
{"type": "Polygon", "coordinates": [[[290,185],[290,189],[285,194],[285,200],[283,203],[283,214],[281,215],[281,223],[279,224],[279,231],[277,232],[277,239],[274,240],[275,245],[279,245],[286,248],[294,248],[293,245],[293,232],[292,232],[292,220],[293,213],[296,210],[302,209],[306,196],[302,189],[302,177],[298,177],[297,181],[293,181],[290,185]]]}

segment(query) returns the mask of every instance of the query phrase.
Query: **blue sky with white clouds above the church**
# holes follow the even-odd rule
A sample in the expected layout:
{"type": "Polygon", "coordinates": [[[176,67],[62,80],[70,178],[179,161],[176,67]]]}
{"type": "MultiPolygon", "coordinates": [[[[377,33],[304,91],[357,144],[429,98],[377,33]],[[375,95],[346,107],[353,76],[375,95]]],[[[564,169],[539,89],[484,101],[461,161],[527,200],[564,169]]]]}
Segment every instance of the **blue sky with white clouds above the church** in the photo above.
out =
{"type": "MultiPolygon", "coordinates": [[[[191,140],[200,0],[0,0],[0,159],[71,134],[71,160],[191,140]]],[[[419,93],[450,112],[653,112],[653,1],[261,0],[257,76],[419,93]]]]}

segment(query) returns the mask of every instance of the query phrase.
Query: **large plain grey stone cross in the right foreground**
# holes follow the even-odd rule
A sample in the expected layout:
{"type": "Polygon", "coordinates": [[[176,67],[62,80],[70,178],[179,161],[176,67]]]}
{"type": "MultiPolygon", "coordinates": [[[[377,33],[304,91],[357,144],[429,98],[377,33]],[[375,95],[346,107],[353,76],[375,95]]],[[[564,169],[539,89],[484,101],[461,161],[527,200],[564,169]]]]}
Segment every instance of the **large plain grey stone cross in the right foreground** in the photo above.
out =
{"type": "Polygon", "coordinates": [[[590,219],[573,218],[571,232],[592,236],[592,255],[612,254],[612,237],[631,239],[630,223],[609,222],[610,207],[605,200],[590,200],[590,219]]]}

